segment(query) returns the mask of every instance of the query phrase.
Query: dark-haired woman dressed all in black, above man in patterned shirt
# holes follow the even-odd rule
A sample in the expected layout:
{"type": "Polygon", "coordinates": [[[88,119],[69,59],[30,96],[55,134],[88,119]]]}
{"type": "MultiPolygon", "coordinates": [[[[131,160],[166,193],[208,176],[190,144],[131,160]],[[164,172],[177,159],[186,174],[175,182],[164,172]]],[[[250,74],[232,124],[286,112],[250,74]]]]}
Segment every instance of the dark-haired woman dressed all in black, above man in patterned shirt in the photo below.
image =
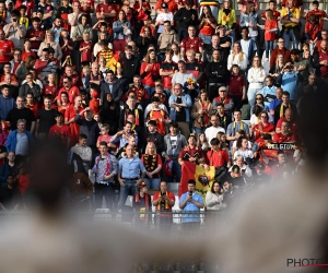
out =
{"type": "Polygon", "coordinates": [[[103,124],[109,124],[109,135],[117,133],[119,123],[119,107],[114,103],[112,94],[105,94],[99,117],[103,124]]]}

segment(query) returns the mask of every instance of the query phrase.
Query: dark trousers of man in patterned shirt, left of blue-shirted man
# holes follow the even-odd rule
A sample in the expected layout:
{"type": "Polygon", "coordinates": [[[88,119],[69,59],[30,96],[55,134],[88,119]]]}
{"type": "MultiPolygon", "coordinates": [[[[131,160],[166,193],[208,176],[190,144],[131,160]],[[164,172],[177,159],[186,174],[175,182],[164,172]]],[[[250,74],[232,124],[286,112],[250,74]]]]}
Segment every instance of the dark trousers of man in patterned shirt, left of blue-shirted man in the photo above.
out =
{"type": "Polygon", "coordinates": [[[110,211],[115,207],[115,189],[114,183],[103,185],[103,183],[94,183],[94,195],[95,195],[95,205],[96,209],[102,209],[103,205],[103,197],[106,200],[106,206],[110,211]]]}

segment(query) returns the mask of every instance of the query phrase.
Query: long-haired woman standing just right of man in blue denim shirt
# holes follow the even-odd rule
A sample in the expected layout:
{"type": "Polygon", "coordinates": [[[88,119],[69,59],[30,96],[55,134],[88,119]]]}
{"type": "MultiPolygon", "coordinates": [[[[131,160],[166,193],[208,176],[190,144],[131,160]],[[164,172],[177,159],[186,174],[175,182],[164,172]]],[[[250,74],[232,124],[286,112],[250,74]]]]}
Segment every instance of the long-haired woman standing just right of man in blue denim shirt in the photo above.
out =
{"type": "Polygon", "coordinates": [[[204,130],[208,128],[210,124],[212,104],[208,99],[208,93],[206,90],[201,90],[191,108],[191,117],[195,119],[194,130],[196,134],[204,132],[204,130]]]}

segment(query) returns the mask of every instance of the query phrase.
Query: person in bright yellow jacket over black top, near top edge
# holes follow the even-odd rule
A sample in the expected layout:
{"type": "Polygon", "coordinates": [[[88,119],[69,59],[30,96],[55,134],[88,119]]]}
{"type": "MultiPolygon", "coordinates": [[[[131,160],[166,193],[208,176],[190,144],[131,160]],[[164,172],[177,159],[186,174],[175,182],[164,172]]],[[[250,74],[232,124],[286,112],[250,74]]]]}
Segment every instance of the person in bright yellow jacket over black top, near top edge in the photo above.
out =
{"type": "MultiPolygon", "coordinates": [[[[225,29],[224,35],[230,36],[230,43],[233,45],[236,39],[235,27],[237,23],[236,11],[231,8],[231,1],[224,0],[222,9],[219,10],[218,24],[222,25],[219,29],[225,29]]],[[[223,31],[221,31],[223,34],[223,31]]],[[[220,33],[220,36],[221,36],[220,33]]]]}

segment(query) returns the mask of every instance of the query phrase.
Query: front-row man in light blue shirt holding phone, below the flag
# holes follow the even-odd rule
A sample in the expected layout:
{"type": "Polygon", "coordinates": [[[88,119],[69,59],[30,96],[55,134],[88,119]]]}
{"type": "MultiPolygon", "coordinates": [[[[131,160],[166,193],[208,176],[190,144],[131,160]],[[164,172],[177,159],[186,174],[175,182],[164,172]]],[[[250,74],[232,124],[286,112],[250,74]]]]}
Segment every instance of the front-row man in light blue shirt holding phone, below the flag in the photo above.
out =
{"type": "Polygon", "coordinates": [[[200,228],[200,214],[187,214],[188,212],[200,212],[203,209],[203,200],[196,191],[196,181],[188,181],[188,191],[183,193],[179,200],[179,209],[183,210],[183,228],[185,233],[192,234],[200,228]]]}

